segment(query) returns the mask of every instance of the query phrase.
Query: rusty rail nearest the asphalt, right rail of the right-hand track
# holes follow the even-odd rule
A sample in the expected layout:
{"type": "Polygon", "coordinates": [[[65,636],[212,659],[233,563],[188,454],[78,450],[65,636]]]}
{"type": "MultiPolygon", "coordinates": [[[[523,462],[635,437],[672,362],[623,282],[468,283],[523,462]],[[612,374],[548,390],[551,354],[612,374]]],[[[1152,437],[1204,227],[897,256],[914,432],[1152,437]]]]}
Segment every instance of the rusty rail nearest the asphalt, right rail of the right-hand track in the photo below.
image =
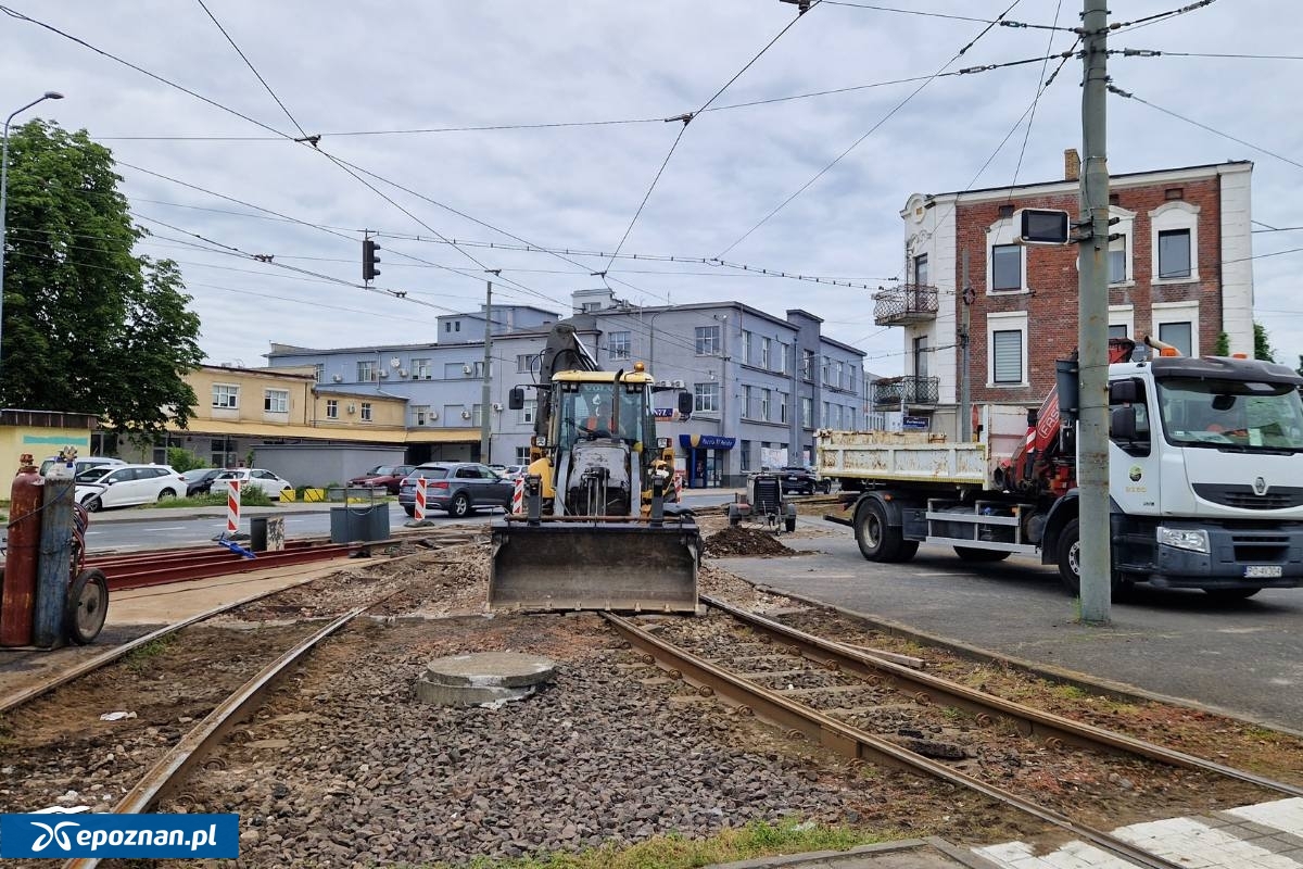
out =
{"type": "Polygon", "coordinates": [[[1071,718],[1055,715],[1054,713],[1032,709],[1031,706],[1024,706],[1002,697],[995,697],[994,694],[968,688],[967,685],[950,681],[949,679],[942,679],[919,670],[904,667],[896,662],[880,658],[872,653],[860,651],[840,642],[816,637],[810,633],[791,628],[762,615],[748,612],[747,610],[735,607],[724,601],[702,595],[701,602],[709,607],[719,610],[721,612],[726,612],[754,631],[794,646],[797,654],[801,654],[801,657],[814,661],[825,667],[837,666],[838,668],[848,670],[861,676],[885,677],[887,681],[894,683],[893,687],[899,688],[903,693],[912,694],[915,697],[921,694],[928,702],[942,702],[949,706],[967,709],[968,711],[977,713],[979,715],[989,717],[994,713],[1005,719],[1018,723],[1023,732],[1028,736],[1044,736],[1045,741],[1050,745],[1055,745],[1057,743],[1054,740],[1058,740],[1059,743],[1071,743],[1074,745],[1091,749],[1102,747],[1110,752],[1139,754],[1161,763],[1167,763],[1169,766],[1199,770],[1201,773],[1214,773],[1217,775],[1255,784],[1267,790],[1278,791],[1281,793],[1303,796],[1303,787],[1277,782],[1255,773],[1248,773],[1233,766],[1225,766],[1222,763],[1217,763],[1216,761],[1208,761],[1164,745],[1148,743],[1124,734],[1106,731],[1093,724],[1072,720],[1071,718]]]}

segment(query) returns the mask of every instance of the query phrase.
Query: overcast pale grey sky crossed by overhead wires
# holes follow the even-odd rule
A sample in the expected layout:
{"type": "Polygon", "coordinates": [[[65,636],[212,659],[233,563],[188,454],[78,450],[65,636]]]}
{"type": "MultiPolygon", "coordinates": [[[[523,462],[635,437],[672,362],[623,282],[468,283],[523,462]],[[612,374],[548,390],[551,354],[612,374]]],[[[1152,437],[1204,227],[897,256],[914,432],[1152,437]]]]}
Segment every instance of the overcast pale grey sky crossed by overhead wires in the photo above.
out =
{"type": "MultiPolygon", "coordinates": [[[[180,263],[212,362],[263,365],[271,341],[434,340],[437,315],[483,301],[485,268],[502,270],[495,301],[564,314],[569,293],[601,287],[602,278],[590,272],[606,270],[610,287],[633,305],[740,300],[778,315],[803,307],[823,318],[827,335],[864,349],[870,370],[898,374],[902,331],[874,326],[866,289],[704,263],[562,258],[481,245],[524,240],[615,251],[681,133],[623,253],[722,257],[876,288],[902,274],[898,212],[911,193],[1010,184],[1019,162],[1019,182],[1055,180],[1063,149],[1080,143],[1076,59],[1040,98],[1025,152],[1025,121],[999,146],[1058,61],[1048,70],[1033,63],[938,77],[908,102],[924,81],[737,106],[1071,47],[1075,36],[1066,31],[995,27],[946,66],[985,27],[972,18],[995,18],[1009,0],[883,4],[938,14],[829,0],[795,23],[796,7],[779,0],[205,0],[302,133],[322,134],[321,152],[253,122],[302,134],[198,0],[4,1],[211,100],[0,16],[0,113],[46,90],[63,91],[66,99],[17,121],[39,115],[85,128],[119,160],[139,167],[120,172],[138,221],[155,233],[142,250],[180,263]],[[661,120],[701,108],[790,23],[714,99],[713,111],[687,128],[661,120]],[[638,122],[448,130],[592,121],[638,122]],[[341,135],[431,128],[446,132],[341,135]],[[374,173],[354,169],[379,193],[327,154],[374,173]],[[258,208],[331,229],[267,219],[258,208]],[[193,246],[270,254],[275,263],[356,284],[364,228],[399,236],[379,240],[377,285],[405,298],[193,246]],[[453,248],[439,236],[472,244],[453,248]]],[[[1113,20],[1135,21],[1184,3],[1115,1],[1113,20]]],[[[1007,17],[1075,26],[1080,8],[1080,0],[1022,0],[1007,17]]],[[[1303,8],[1295,0],[1217,0],[1110,36],[1111,48],[1188,53],[1298,55],[1299,44],[1303,8]]],[[[1109,73],[1119,87],[1247,145],[1110,98],[1110,169],[1251,159],[1255,229],[1303,227],[1300,72],[1299,60],[1111,57],[1109,73]]],[[[1253,236],[1256,319],[1268,327],[1277,358],[1291,365],[1303,353],[1295,279],[1303,253],[1263,254],[1294,248],[1303,248],[1303,232],[1253,236]]]]}

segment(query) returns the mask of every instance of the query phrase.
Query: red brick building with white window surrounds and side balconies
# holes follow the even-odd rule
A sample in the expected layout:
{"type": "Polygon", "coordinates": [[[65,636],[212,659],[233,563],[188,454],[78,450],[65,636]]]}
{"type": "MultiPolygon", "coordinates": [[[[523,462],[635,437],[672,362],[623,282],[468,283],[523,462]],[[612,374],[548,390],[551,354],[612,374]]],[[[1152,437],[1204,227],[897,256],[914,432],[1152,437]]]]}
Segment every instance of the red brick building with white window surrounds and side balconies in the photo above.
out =
{"type": "MultiPolygon", "coordinates": [[[[1252,163],[1230,162],[1109,180],[1109,334],[1145,335],[1186,354],[1253,352],[1250,235],[1252,163]]],[[[1054,360],[1078,343],[1076,246],[1014,244],[1018,208],[1061,208],[1076,219],[1080,162],[1065,152],[1062,181],[913,194],[904,221],[907,281],[874,296],[880,326],[904,327],[906,374],[873,400],[928,416],[960,392],[964,266],[972,284],[973,401],[1038,404],[1054,360]]]]}

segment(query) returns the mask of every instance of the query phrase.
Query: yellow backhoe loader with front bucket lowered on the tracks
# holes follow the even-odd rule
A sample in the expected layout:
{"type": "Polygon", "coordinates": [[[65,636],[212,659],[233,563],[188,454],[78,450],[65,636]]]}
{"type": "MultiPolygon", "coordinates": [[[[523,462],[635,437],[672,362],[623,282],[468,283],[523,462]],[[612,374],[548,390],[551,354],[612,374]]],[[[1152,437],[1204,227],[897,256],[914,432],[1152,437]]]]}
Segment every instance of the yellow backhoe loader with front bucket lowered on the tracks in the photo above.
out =
{"type": "MultiPolygon", "coordinates": [[[[525,388],[508,406],[525,405],[525,388]]],[[[526,508],[493,525],[490,608],[696,612],[701,533],[674,494],[670,439],[657,435],[663,387],[642,362],[603,371],[560,321],[529,388],[526,508]]],[[[692,412],[689,393],[678,404],[692,412]]]]}

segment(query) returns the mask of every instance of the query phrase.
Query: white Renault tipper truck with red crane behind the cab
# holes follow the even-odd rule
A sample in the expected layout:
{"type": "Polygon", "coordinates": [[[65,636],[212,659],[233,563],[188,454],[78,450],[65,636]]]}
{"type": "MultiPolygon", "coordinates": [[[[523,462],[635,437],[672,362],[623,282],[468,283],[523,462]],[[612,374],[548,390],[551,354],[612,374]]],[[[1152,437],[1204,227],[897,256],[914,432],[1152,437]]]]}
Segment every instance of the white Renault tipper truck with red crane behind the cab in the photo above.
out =
{"type": "MultiPolygon", "coordinates": [[[[1303,584],[1303,377],[1274,362],[1184,357],[1144,339],[1109,348],[1110,588],[1201,589],[1243,599],[1303,584]]],[[[843,483],[860,552],[907,562],[920,543],[968,562],[1012,554],[1058,567],[1080,593],[1075,361],[1007,427],[971,442],[929,433],[820,431],[818,472],[843,483]],[[852,491],[846,491],[851,489],[852,491]]],[[[985,412],[984,412],[985,413],[985,412]]],[[[1007,414],[1005,417],[1007,420],[1007,414]]],[[[982,420],[994,422],[990,416],[982,420]]]]}

